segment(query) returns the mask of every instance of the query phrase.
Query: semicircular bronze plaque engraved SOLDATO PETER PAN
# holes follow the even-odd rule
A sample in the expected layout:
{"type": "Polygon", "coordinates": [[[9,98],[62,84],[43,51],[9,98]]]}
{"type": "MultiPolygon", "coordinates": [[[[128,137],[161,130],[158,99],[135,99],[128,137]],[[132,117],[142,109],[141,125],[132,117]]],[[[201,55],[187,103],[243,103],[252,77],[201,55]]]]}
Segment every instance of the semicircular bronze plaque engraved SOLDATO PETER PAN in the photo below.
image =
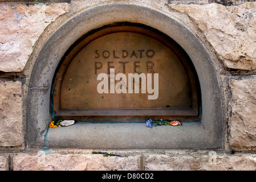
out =
{"type": "Polygon", "coordinates": [[[147,28],[103,28],[63,60],[54,85],[56,115],[198,115],[188,59],[147,28]]]}

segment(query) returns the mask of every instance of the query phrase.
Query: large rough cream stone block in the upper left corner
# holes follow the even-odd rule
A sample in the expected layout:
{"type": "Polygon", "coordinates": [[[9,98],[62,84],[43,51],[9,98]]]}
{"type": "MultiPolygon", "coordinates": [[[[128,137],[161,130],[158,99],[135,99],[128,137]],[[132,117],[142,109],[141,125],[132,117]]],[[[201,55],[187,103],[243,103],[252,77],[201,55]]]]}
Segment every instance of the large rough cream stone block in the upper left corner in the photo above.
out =
{"type": "Polygon", "coordinates": [[[20,72],[44,28],[69,9],[67,3],[0,4],[0,71],[20,72]]]}

